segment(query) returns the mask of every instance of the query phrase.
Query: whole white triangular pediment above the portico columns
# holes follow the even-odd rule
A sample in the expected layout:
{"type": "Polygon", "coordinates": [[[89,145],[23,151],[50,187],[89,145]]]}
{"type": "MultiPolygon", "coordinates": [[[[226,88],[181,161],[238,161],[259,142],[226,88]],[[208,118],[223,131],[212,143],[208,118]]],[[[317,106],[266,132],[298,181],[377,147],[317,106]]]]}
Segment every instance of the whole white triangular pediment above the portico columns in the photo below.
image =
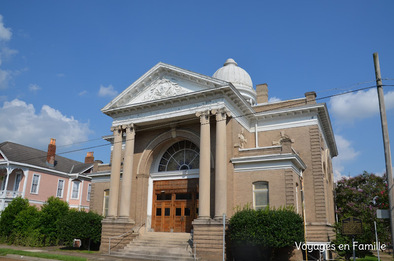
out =
{"type": "Polygon", "coordinates": [[[228,83],[176,66],[158,63],[108,103],[102,112],[187,95],[223,85],[228,85],[228,83]]]}

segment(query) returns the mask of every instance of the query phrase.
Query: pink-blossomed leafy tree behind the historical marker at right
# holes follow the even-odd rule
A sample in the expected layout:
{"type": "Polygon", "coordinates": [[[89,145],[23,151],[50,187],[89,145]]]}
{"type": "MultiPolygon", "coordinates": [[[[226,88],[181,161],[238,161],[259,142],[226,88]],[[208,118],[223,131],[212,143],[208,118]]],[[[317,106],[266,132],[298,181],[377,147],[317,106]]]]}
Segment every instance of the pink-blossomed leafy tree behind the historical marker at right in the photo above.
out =
{"type": "MultiPolygon", "coordinates": [[[[364,235],[356,236],[356,241],[362,244],[372,244],[376,241],[374,221],[380,242],[390,242],[389,220],[378,219],[377,209],[388,209],[386,177],[380,177],[373,173],[364,171],[362,174],[351,178],[342,178],[335,188],[335,201],[338,215],[338,223],[334,224],[336,239],[332,242],[336,246],[339,244],[352,245],[351,236],[342,235],[341,219],[356,217],[362,219],[364,235]]],[[[353,248],[346,251],[338,251],[338,254],[345,257],[345,260],[353,255],[353,248]]],[[[358,257],[363,257],[368,251],[357,251],[358,257]]]]}

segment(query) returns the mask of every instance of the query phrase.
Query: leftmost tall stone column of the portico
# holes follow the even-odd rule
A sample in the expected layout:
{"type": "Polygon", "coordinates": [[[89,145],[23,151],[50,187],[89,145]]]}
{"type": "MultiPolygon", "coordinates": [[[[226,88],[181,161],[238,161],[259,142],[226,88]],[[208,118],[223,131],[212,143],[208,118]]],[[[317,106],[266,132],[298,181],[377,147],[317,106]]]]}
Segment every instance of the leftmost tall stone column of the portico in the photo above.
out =
{"type": "Polygon", "coordinates": [[[117,218],[123,133],[120,125],[111,127],[111,131],[113,131],[114,140],[113,140],[113,150],[112,150],[111,178],[109,181],[109,202],[108,202],[107,217],[117,218]]]}

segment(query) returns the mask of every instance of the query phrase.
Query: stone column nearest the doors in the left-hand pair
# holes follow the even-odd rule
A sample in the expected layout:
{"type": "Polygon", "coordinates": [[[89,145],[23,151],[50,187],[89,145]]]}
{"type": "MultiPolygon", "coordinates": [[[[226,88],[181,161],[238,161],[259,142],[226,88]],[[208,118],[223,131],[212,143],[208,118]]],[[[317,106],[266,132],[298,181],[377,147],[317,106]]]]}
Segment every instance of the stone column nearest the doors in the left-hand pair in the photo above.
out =
{"type": "Polygon", "coordinates": [[[126,129],[126,147],[123,160],[119,218],[130,218],[130,197],[133,176],[134,139],[136,136],[136,132],[133,123],[123,125],[122,128],[126,129]]]}

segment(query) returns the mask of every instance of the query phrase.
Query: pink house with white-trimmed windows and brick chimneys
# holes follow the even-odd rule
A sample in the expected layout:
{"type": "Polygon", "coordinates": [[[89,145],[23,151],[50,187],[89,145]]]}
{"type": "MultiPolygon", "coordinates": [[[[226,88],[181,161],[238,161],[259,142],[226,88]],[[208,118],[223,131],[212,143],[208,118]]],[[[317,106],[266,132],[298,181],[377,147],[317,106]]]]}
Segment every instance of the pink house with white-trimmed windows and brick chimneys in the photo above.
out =
{"type": "Polygon", "coordinates": [[[12,142],[0,143],[0,211],[15,197],[29,199],[31,205],[42,205],[56,196],[70,207],[89,210],[93,152],[85,163],[56,155],[56,140],[48,151],[12,142]]]}

